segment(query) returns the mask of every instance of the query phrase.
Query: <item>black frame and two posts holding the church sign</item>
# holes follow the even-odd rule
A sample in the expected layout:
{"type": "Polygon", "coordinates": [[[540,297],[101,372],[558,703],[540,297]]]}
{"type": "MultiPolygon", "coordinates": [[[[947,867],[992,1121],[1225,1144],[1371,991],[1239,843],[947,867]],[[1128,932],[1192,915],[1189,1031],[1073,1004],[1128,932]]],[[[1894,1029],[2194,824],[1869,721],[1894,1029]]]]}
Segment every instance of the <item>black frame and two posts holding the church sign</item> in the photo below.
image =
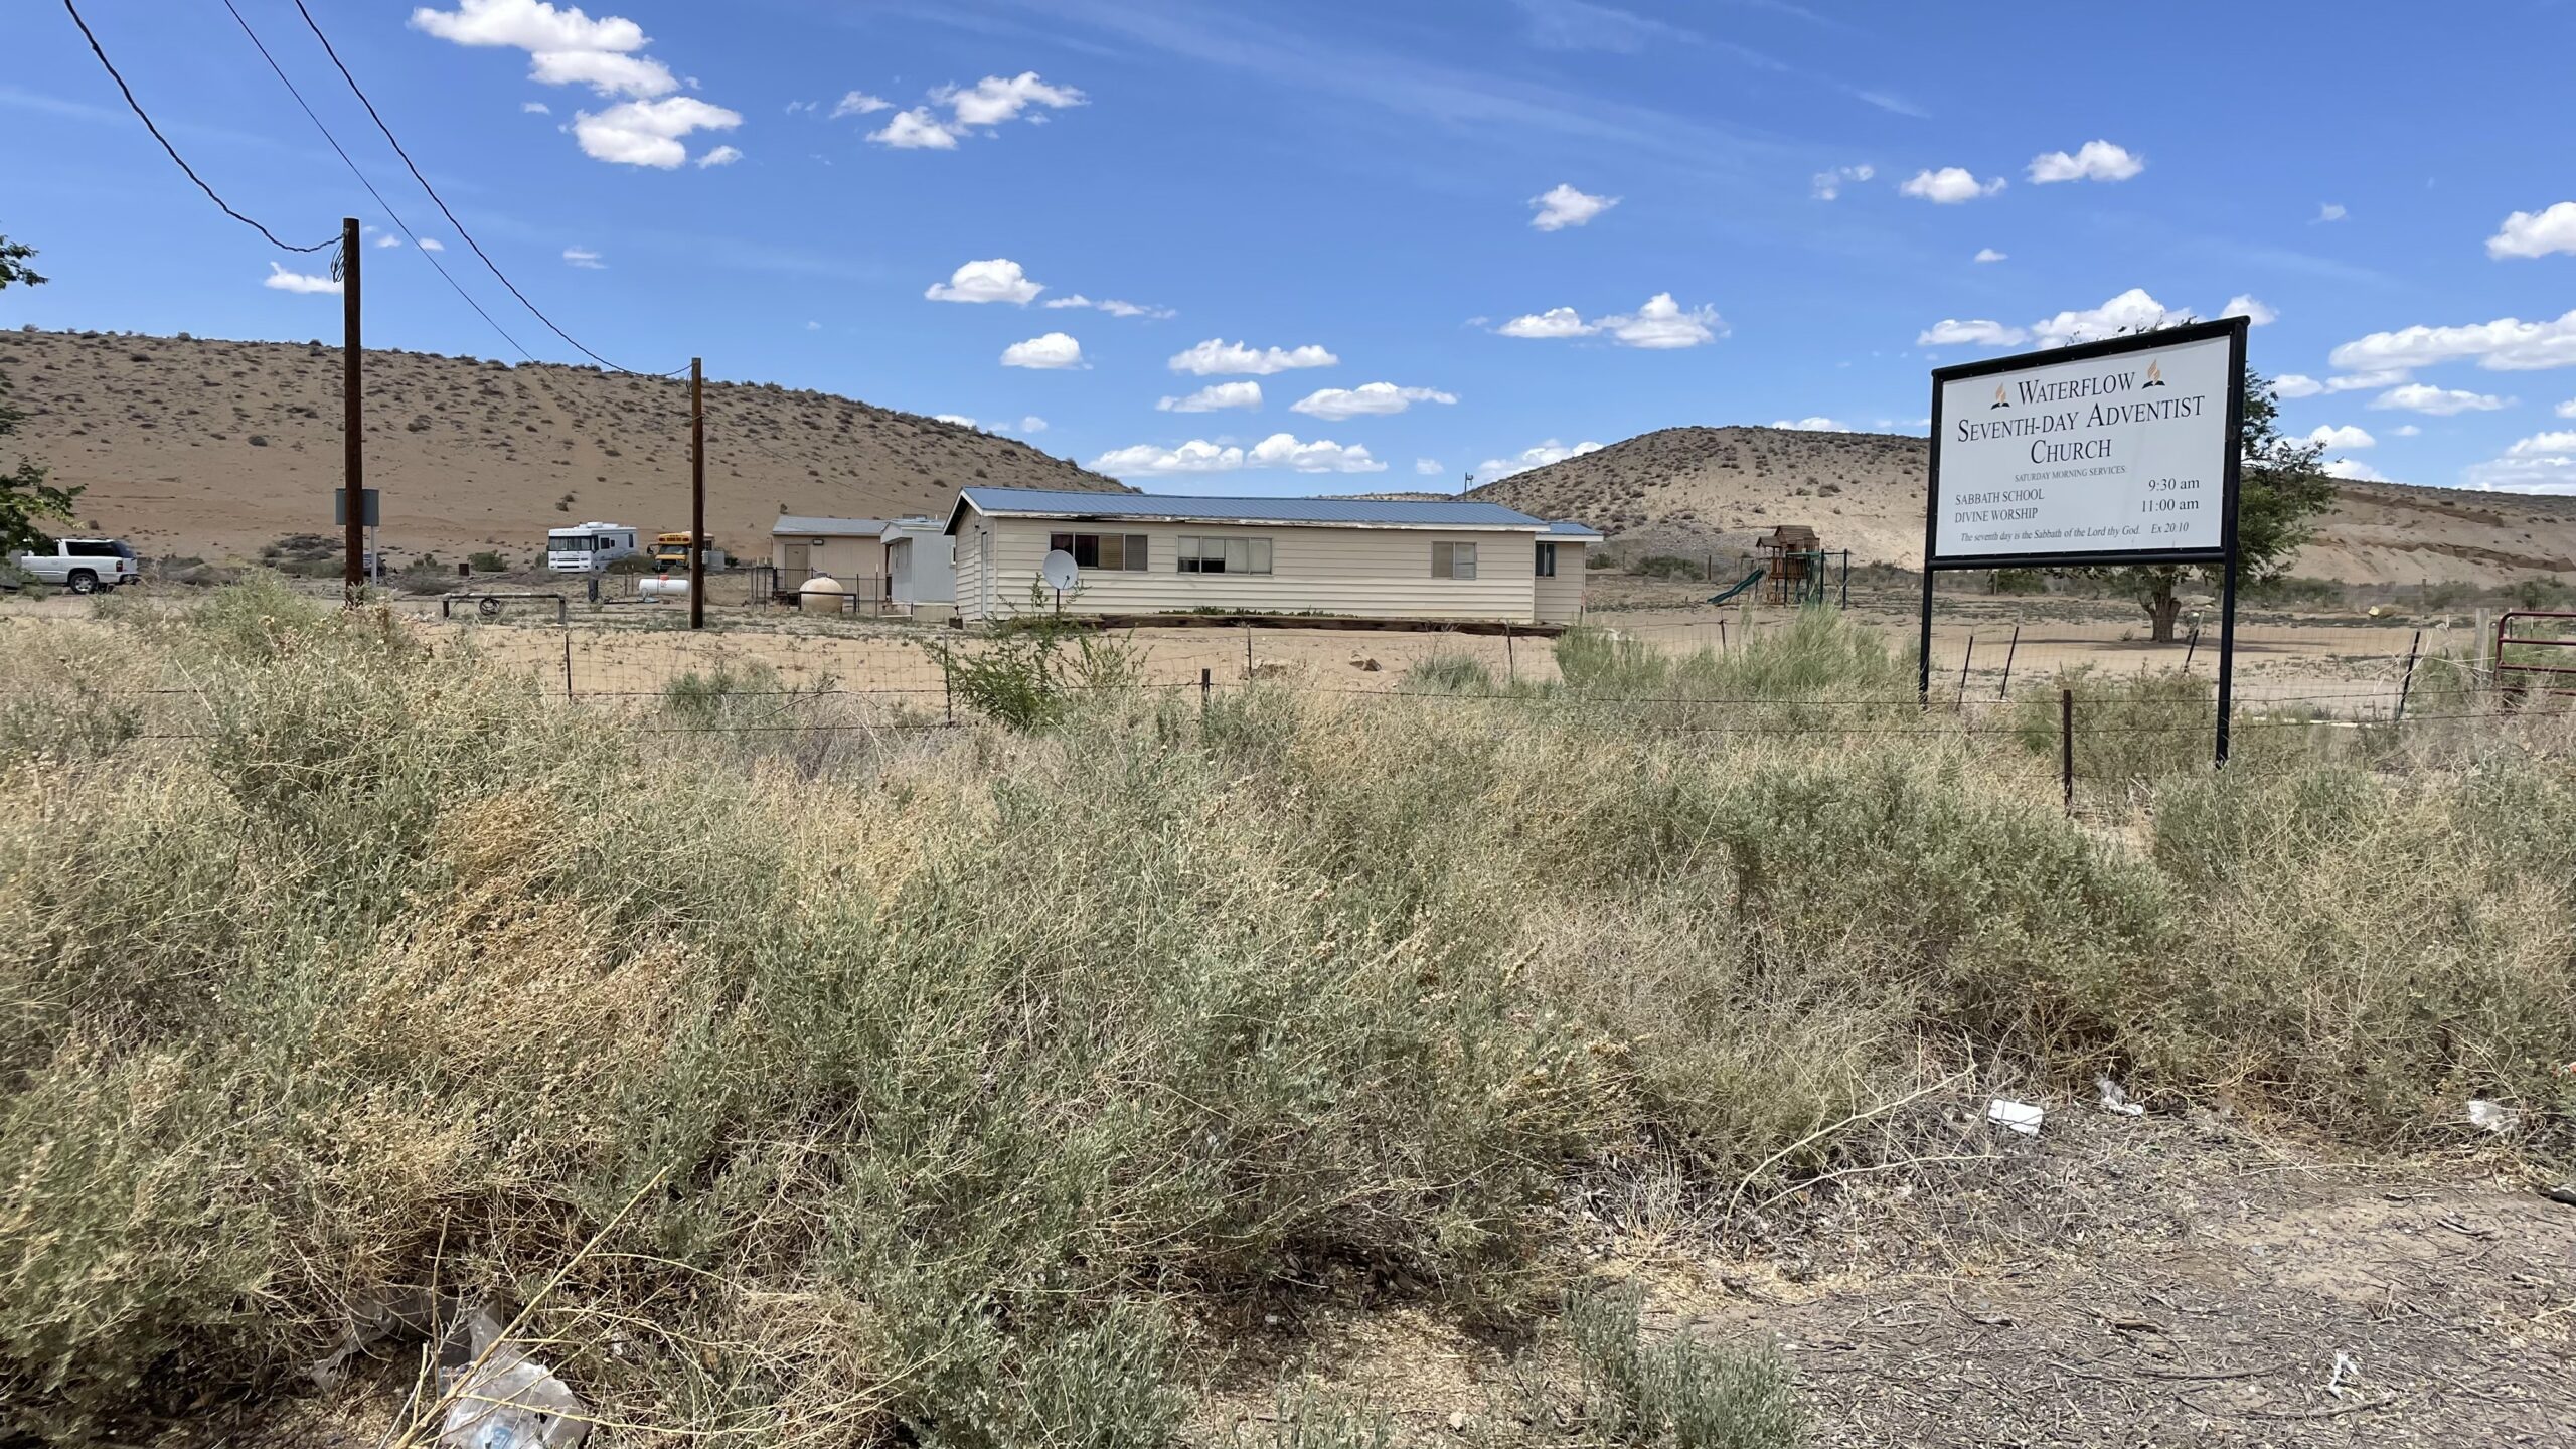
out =
{"type": "Polygon", "coordinates": [[[2228,763],[2228,717],[2236,709],[2236,505],[2244,487],[2244,423],[2246,423],[2246,333],[2249,317],[2221,317],[2215,322],[2190,322],[2159,327],[2130,338],[2105,338],[2099,343],[2074,343],[2043,353],[2014,353],[2007,358],[1981,358],[1973,364],[1932,369],[1932,467],[1924,480],[1924,603],[1922,652],[1917,660],[1917,688],[1924,706],[1932,704],[1932,580],[1950,570],[1999,567],[2117,567],[2117,565],[2221,565],[2218,588],[2218,745],[2215,761],[2228,763]],[[2215,549],[2092,549],[2056,554],[1953,554],[1940,557],[1940,443],[1942,443],[1942,387],[1971,376],[2027,371],[2032,366],[2092,361],[2120,353],[2161,351],[2190,343],[2228,343],[2228,433],[2226,459],[2218,485],[2218,547],[2215,549]]]}

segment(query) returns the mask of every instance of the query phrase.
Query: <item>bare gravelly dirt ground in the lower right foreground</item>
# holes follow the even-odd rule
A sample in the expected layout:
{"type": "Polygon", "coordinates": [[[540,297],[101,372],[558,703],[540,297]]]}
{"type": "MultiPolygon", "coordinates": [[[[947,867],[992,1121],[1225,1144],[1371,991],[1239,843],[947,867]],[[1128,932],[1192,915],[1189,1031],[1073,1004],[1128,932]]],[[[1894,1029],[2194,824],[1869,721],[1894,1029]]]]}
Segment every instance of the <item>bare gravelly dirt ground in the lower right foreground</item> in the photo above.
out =
{"type": "MultiPolygon", "coordinates": [[[[2512,1171],[2339,1163],[2208,1114],[2074,1104],[2025,1140],[1973,1111],[1968,1163],[1826,1183],[1749,1238],[1587,1214],[1589,1271],[1643,1284],[1649,1333],[1775,1341],[1824,1446],[2576,1441],[2576,1207],[2512,1171]]],[[[1208,1431],[1257,1426],[1285,1379],[1406,1439],[1510,1439],[1530,1372],[1419,1307],[1340,1307],[1242,1354],[1208,1431]]]]}

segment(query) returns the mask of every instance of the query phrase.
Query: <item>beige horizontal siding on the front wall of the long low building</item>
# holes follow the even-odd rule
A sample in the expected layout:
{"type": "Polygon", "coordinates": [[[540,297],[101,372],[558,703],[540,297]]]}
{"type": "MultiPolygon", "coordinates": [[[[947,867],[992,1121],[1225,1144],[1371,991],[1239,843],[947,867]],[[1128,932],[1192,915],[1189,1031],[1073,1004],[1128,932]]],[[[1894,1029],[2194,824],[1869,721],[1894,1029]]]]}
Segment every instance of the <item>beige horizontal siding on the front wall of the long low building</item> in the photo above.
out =
{"type": "Polygon", "coordinates": [[[1383,526],[1218,526],[1218,523],[1069,523],[1054,518],[984,518],[958,523],[958,611],[979,616],[969,585],[974,531],[994,534],[992,603],[997,616],[1028,608],[1048,534],[1144,534],[1144,572],[1082,570],[1082,590],[1064,606],[1082,614],[1188,614],[1193,608],[1260,614],[1347,614],[1360,619],[1512,619],[1533,621],[1535,531],[1383,529],[1383,526]],[[1180,539],[1270,539],[1270,572],[1180,572],[1180,539]],[[1432,544],[1476,544],[1476,578],[1432,578],[1432,544]]]}

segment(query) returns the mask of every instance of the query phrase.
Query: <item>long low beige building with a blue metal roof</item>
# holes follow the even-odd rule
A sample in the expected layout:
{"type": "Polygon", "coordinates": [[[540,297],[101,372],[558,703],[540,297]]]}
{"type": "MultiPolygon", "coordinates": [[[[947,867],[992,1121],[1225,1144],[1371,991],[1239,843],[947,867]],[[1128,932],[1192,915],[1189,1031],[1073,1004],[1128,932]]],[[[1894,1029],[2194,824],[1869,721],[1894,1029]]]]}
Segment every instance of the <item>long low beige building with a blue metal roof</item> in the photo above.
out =
{"type": "Polygon", "coordinates": [[[969,487],[948,513],[966,619],[1030,606],[1051,549],[1079,614],[1569,621],[1600,534],[1471,500],[1177,498],[969,487]]]}

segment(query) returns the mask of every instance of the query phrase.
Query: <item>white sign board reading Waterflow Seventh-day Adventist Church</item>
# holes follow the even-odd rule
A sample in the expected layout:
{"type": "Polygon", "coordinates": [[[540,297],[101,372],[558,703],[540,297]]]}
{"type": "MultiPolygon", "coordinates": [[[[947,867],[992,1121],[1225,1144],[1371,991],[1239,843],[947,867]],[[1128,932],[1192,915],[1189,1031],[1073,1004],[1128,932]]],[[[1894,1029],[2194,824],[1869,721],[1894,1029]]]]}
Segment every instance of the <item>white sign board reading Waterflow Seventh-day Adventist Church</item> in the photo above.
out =
{"type": "Polygon", "coordinates": [[[2079,353],[1935,374],[1932,562],[2223,549],[2231,340],[2079,353]]]}

